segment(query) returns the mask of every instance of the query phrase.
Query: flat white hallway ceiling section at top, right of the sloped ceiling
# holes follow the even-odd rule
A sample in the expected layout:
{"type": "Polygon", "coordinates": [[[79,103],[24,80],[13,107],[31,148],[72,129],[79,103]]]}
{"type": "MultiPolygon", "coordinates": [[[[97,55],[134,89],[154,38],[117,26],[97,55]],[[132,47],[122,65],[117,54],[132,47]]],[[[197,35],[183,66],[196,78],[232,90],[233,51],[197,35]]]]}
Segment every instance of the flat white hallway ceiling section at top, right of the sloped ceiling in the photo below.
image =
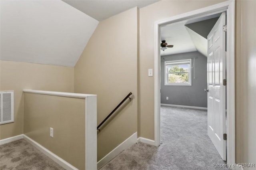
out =
{"type": "Polygon", "coordinates": [[[92,18],[101,21],[134,7],[142,8],[160,0],[63,0],[92,18]]]}

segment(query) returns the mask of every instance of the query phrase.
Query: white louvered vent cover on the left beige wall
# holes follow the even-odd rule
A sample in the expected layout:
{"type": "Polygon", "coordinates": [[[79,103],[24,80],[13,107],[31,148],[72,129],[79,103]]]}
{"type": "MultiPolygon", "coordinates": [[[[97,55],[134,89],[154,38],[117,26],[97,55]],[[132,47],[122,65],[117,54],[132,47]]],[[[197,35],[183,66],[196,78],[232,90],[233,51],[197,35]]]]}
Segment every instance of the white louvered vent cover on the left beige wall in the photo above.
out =
{"type": "Polygon", "coordinates": [[[0,125],[14,122],[14,91],[0,91],[0,125]]]}

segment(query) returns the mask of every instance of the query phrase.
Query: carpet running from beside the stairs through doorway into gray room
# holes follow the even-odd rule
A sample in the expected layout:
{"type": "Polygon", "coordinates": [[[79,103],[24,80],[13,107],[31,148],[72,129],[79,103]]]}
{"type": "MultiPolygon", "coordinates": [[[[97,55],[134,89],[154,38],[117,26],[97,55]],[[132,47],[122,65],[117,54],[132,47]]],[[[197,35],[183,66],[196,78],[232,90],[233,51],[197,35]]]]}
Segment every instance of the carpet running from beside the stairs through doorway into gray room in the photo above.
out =
{"type": "Polygon", "coordinates": [[[161,106],[161,144],[139,142],[100,170],[227,170],[207,135],[207,111],[161,106]]]}

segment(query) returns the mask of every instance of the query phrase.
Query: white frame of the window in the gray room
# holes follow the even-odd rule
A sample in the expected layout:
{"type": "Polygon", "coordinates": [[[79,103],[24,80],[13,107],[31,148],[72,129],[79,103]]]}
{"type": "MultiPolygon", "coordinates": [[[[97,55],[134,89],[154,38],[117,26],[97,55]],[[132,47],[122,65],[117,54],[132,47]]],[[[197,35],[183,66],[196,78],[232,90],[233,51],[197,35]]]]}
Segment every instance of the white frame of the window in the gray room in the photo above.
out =
{"type": "Polygon", "coordinates": [[[192,80],[191,80],[191,61],[192,59],[178,59],[178,60],[170,60],[170,61],[164,61],[164,85],[180,85],[180,86],[191,86],[192,80]],[[168,70],[166,67],[166,63],[175,63],[175,62],[187,62],[189,61],[189,69],[188,69],[188,83],[168,83],[168,70]]]}

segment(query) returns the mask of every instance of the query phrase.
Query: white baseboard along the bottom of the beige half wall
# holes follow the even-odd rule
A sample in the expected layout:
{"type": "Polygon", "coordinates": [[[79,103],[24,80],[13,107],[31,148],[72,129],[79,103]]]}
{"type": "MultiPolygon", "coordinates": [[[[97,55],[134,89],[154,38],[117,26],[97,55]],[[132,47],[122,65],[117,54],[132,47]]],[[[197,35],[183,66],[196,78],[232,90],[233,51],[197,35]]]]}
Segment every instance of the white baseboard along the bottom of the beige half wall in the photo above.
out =
{"type": "Polygon", "coordinates": [[[66,162],[56,154],[52,153],[50,150],[46,149],[44,146],[40,145],[30,137],[23,134],[23,138],[28,141],[30,144],[32,144],[34,147],[36,147],[38,150],[40,150],[42,153],[44,153],[46,156],[51,158],[54,162],[62,166],[66,170],[78,170],[76,167],[72,166],[70,163],[66,162]]]}

